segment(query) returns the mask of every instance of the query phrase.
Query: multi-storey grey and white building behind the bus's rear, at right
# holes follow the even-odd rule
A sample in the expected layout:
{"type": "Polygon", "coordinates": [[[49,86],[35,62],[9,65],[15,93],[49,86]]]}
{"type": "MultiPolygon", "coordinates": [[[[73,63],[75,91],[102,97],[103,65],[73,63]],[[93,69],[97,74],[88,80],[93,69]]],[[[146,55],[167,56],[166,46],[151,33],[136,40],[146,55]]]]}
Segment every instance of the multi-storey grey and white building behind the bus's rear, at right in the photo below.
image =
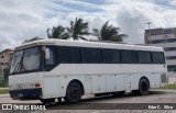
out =
{"type": "Polygon", "coordinates": [[[176,27],[145,30],[144,39],[165,49],[168,71],[176,72],[176,27]]]}

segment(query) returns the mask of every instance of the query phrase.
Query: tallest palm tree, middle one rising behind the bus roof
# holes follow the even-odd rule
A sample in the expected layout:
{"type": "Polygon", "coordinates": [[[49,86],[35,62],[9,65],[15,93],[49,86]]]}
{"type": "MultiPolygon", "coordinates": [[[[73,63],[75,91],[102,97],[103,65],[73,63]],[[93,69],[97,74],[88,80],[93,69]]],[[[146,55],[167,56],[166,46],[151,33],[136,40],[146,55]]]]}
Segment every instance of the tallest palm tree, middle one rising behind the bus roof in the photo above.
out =
{"type": "Polygon", "coordinates": [[[88,22],[84,22],[82,19],[77,19],[75,22],[70,21],[70,27],[67,27],[68,33],[73,36],[74,41],[75,39],[84,39],[87,41],[82,35],[89,35],[90,33],[88,32],[88,22]]]}

